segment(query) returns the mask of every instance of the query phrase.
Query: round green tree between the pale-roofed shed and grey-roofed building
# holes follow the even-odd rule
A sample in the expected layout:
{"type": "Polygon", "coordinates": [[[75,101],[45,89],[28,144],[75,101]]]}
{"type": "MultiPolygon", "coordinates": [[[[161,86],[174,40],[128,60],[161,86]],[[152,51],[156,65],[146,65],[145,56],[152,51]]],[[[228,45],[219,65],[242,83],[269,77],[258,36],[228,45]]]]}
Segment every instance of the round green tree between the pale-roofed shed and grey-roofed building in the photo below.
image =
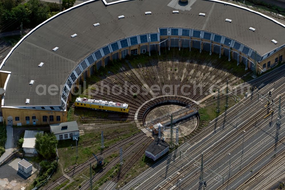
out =
{"type": "Polygon", "coordinates": [[[36,134],[35,149],[46,159],[56,153],[57,143],[58,140],[54,133],[36,134]]]}

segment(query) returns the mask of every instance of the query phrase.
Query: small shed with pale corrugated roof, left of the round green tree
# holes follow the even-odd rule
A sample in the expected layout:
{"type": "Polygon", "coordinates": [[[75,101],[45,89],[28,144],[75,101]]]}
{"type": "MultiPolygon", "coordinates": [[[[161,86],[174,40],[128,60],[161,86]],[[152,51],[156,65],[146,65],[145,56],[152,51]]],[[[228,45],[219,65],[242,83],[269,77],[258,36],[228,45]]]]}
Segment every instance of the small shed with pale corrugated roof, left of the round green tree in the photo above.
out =
{"type": "Polygon", "coordinates": [[[22,145],[24,152],[29,154],[37,154],[38,152],[35,149],[35,140],[37,133],[44,133],[43,131],[25,131],[24,143],[22,145]]]}

